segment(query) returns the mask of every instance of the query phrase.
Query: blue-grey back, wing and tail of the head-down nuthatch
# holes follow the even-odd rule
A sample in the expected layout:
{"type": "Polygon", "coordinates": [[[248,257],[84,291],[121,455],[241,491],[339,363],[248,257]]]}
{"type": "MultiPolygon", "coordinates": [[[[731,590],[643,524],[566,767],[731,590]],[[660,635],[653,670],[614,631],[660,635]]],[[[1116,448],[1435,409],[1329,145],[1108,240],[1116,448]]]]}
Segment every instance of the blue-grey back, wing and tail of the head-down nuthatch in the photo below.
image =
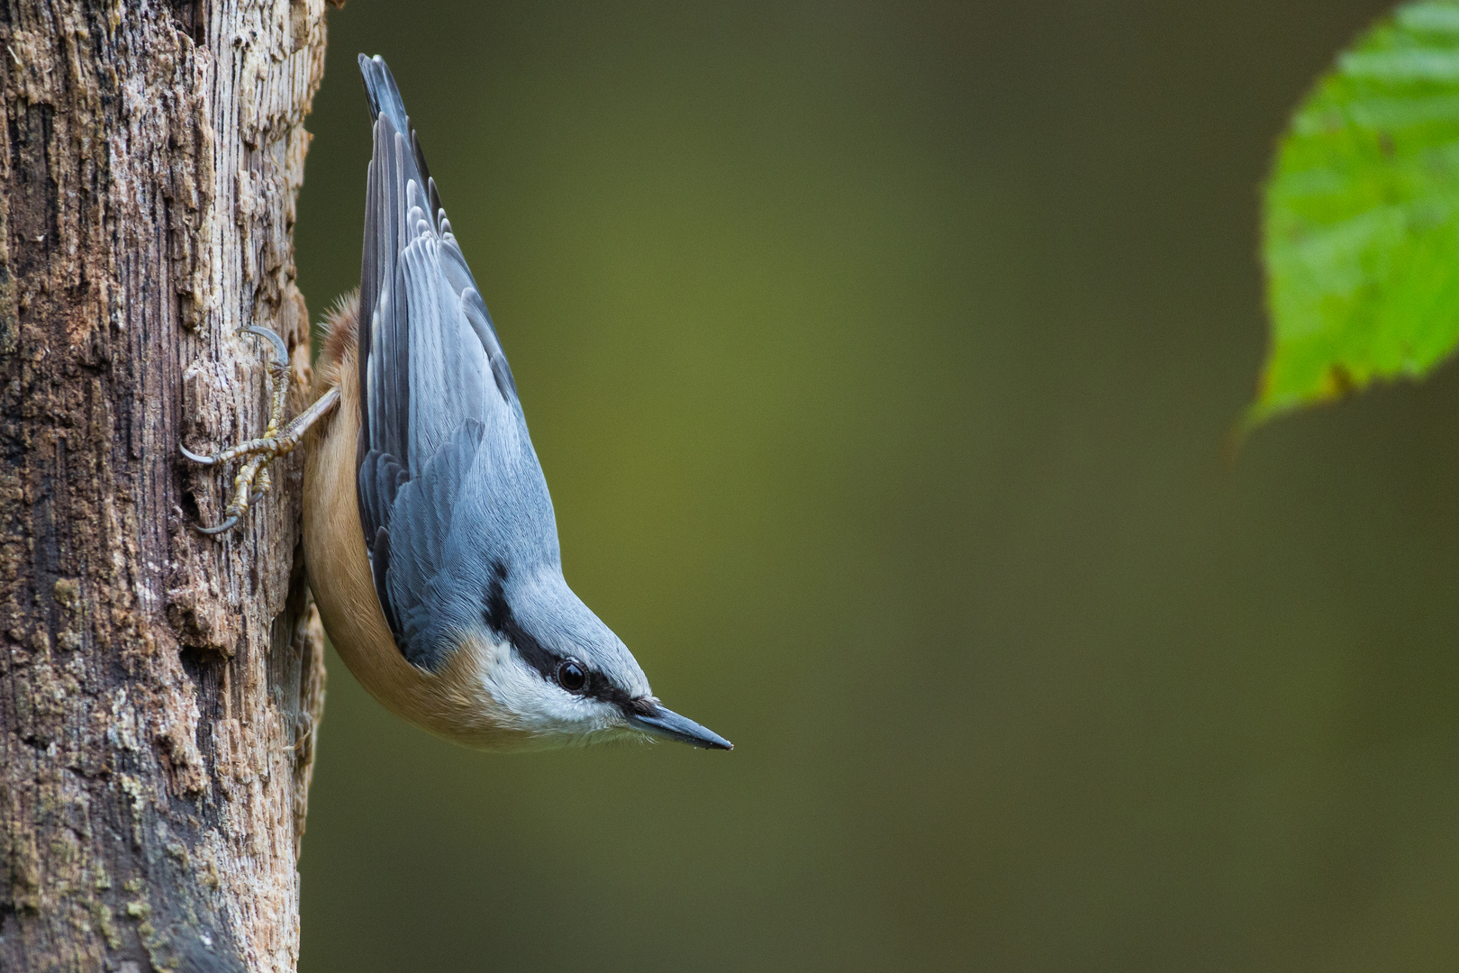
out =
{"type": "Polygon", "coordinates": [[[360,267],[360,527],[395,642],[435,668],[496,566],[557,563],[516,387],[390,69],[360,55],[375,121],[360,267]]]}

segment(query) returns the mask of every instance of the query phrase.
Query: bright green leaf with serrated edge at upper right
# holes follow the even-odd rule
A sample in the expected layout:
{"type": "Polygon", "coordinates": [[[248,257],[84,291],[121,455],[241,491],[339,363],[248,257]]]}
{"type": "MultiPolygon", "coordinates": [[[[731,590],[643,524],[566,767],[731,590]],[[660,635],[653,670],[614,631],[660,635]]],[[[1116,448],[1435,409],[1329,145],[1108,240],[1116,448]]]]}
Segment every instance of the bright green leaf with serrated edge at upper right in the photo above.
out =
{"type": "Polygon", "coordinates": [[[1406,3],[1293,118],[1265,191],[1271,352],[1247,427],[1459,343],[1459,0],[1406,3]]]}

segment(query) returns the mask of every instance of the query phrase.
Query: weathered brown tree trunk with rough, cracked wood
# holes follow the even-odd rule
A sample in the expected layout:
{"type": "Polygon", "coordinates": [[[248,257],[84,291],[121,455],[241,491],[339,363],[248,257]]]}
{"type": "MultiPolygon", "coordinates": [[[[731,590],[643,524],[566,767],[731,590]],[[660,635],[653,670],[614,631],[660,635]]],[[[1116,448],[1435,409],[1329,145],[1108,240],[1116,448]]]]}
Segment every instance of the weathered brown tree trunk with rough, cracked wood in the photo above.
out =
{"type": "Polygon", "coordinates": [[[0,0],[0,970],[293,970],[324,694],[293,213],[324,0],[0,0]],[[292,408],[298,408],[298,400],[292,408]]]}

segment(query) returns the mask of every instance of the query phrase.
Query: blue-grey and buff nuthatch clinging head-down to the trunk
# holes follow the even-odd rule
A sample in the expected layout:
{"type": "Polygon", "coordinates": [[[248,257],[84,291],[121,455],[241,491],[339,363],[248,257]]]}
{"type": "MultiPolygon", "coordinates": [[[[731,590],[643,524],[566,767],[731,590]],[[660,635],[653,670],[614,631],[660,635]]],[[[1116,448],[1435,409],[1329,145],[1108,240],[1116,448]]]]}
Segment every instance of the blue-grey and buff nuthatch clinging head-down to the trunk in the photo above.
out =
{"type": "Polygon", "coordinates": [[[357,295],[327,317],[312,404],[280,429],[274,346],[261,439],[228,519],[305,441],[303,551],[340,658],[419,726],[473,747],[648,734],[730,750],[659,705],[623,642],[568,588],[557,524],[492,317],[441,209],[390,69],[359,57],[375,123],[357,295]],[[308,433],[305,439],[305,433],[308,433]]]}

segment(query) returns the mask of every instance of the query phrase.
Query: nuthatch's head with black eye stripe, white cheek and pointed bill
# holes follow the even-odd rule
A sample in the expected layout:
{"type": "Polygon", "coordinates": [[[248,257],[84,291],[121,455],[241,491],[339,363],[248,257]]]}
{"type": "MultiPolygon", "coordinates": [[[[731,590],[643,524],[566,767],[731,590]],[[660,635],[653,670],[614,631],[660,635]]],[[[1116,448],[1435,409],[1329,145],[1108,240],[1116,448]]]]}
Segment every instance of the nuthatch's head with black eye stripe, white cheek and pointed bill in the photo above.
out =
{"type": "Polygon", "coordinates": [[[648,735],[732,748],[654,697],[638,659],[572,592],[560,569],[511,576],[498,570],[481,620],[490,645],[481,681],[498,719],[528,745],[648,735]]]}

